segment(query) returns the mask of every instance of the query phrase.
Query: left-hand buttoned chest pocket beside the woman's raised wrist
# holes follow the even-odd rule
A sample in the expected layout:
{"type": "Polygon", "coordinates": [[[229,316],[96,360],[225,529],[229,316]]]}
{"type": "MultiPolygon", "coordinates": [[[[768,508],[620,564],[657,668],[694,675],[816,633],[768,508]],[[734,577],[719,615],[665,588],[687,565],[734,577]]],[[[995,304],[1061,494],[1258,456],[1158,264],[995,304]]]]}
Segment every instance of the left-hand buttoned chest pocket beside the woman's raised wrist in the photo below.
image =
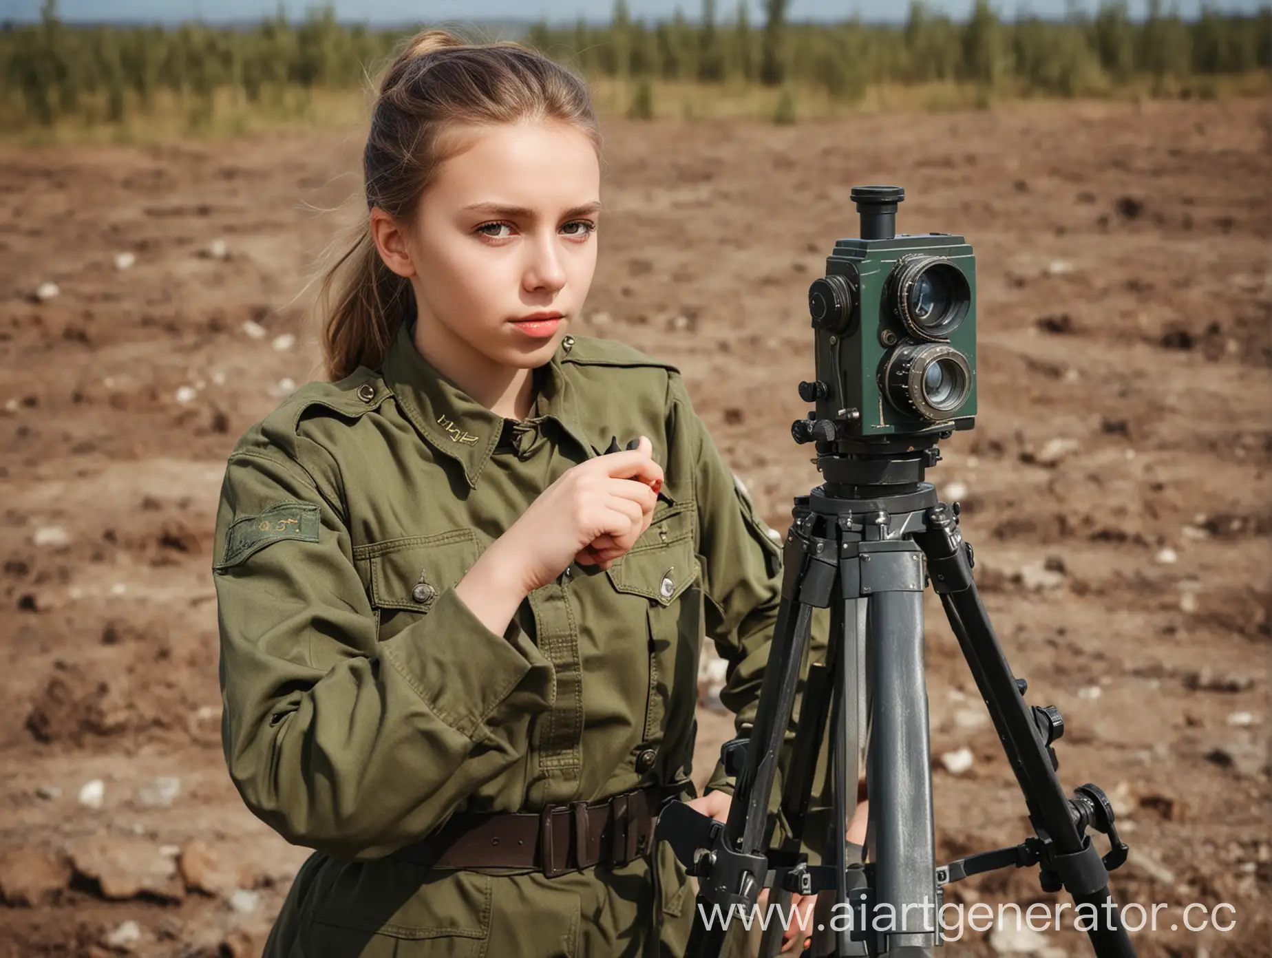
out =
{"type": "Polygon", "coordinates": [[[438,595],[468,574],[477,556],[477,533],[472,529],[359,546],[354,557],[370,565],[369,592],[379,641],[427,614],[438,595]]]}

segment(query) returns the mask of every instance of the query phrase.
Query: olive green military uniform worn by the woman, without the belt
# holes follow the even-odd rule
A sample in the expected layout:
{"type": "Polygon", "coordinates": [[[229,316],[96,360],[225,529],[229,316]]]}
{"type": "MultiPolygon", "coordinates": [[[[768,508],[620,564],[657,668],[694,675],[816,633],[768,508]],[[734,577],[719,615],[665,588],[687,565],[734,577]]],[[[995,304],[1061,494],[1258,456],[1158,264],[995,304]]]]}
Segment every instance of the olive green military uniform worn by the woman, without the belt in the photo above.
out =
{"type": "MultiPolygon", "coordinates": [[[[229,457],[216,519],[223,742],[248,808],[315,849],[266,958],[679,955],[665,845],[548,877],[391,852],[458,813],[689,782],[707,636],[754,714],[781,550],[674,366],[567,336],[504,420],[416,350],[309,383],[229,457]],[[566,469],[647,435],[665,473],[609,570],[571,565],[491,632],[452,587],[566,469]]],[[[729,789],[717,766],[709,788],[729,789]]]]}

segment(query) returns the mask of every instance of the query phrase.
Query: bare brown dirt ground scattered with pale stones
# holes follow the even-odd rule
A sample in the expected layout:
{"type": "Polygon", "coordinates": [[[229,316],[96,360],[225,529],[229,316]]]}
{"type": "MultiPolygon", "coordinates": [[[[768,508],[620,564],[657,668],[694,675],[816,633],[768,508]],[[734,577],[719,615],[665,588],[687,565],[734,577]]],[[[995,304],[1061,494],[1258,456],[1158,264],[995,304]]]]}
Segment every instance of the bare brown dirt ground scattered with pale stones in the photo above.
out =
{"type": "MultiPolygon", "coordinates": [[[[1267,117],[1020,104],[604,126],[577,331],[678,361],[780,531],[819,481],[789,427],[812,378],[808,284],[856,235],[850,188],[903,184],[901,232],[974,244],[981,415],[930,475],[963,503],[1029,701],[1063,711],[1063,782],[1113,798],[1132,847],[1116,894],[1169,906],[1132,936],[1141,955],[1272,955],[1267,117]],[[1235,927],[1188,931],[1192,902],[1230,903],[1235,927]]],[[[0,149],[3,958],[258,954],[305,855],[225,774],[209,539],[230,447],[318,375],[301,290],[359,151],[356,134],[0,149]],[[60,295],[38,302],[45,282],[60,295]]],[[[929,598],[948,860],[1028,832],[929,598]]],[[[700,780],[729,733],[701,711],[700,780]]],[[[1035,870],[949,894],[1058,901],[1035,870]]],[[[1072,931],[1042,944],[1020,947],[1090,953],[1072,931]]],[[[1011,947],[969,931],[948,949],[1011,947]]]]}

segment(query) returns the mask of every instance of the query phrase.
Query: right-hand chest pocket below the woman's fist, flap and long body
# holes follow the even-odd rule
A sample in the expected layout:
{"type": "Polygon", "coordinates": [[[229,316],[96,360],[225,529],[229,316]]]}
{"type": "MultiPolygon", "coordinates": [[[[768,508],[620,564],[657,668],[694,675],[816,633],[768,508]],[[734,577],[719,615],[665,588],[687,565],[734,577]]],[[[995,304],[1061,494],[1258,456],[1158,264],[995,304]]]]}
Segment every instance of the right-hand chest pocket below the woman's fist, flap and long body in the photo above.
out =
{"type": "MultiPolygon", "coordinates": [[[[702,635],[702,575],[695,548],[698,514],[693,503],[655,513],[636,545],[607,570],[613,588],[644,599],[649,642],[645,730],[636,771],[659,781],[692,768],[693,711],[697,705],[702,635]],[[640,761],[653,751],[653,765],[640,761]]],[[[633,613],[639,614],[639,613],[633,613]]]]}

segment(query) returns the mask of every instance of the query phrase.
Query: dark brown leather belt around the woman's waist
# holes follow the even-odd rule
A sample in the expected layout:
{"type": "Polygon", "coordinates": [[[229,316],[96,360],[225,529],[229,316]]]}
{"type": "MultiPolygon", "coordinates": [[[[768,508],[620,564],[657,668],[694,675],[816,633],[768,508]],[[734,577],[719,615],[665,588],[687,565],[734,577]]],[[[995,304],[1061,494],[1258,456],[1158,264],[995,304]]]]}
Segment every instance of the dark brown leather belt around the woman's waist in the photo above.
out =
{"type": "Polygon", "coordinates": [[[653,845],[663,805],[692,788],[689,781],[650,785],[604,802],[548,805],[538,814],[457,813],[389,857],[429,868],[533,868],[548,878],[602,863],[626,865],[653,845]]]}

